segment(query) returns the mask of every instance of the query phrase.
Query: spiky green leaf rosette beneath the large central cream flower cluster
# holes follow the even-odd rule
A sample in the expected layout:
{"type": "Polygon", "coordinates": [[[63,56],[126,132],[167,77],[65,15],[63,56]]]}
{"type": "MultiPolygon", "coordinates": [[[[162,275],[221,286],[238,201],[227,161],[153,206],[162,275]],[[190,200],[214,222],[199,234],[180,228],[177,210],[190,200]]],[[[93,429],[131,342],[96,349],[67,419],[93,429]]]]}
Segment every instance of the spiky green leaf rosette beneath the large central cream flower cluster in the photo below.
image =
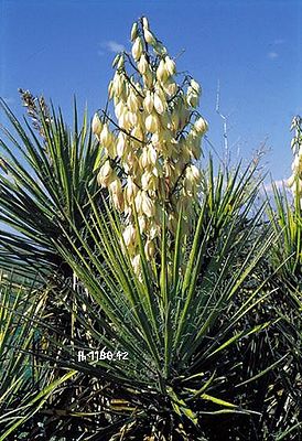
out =
{"type": "Polygon", "coordinates": [[[139,235],[139,275],[112,208],[103,214],[90,201],[84,235],[71,223],[79,247],[65,232],[74,250],[63,246],[61,252],[82,287],[74,293],[76,320],[90,342],[60,346],[56,363],[108,385],[98,409],[108,427],[96,428],[90,439],[216,439],[215,418],[234,439],[240,422],[255,435],[263,409],[251,390],[287,362],[287,354],[269,361],[259,353],[251,367],[242,355],[277,320],[261,313],[273,292],[258,272],[272,237],[257,233],[261,212],[249,217],[256,197],[250,175],[227,182],[223,174],[209,176],[192,238],[182,232],[181,214],[168,250],[164,220],[161,251],[150,261],[139,235]]]}

